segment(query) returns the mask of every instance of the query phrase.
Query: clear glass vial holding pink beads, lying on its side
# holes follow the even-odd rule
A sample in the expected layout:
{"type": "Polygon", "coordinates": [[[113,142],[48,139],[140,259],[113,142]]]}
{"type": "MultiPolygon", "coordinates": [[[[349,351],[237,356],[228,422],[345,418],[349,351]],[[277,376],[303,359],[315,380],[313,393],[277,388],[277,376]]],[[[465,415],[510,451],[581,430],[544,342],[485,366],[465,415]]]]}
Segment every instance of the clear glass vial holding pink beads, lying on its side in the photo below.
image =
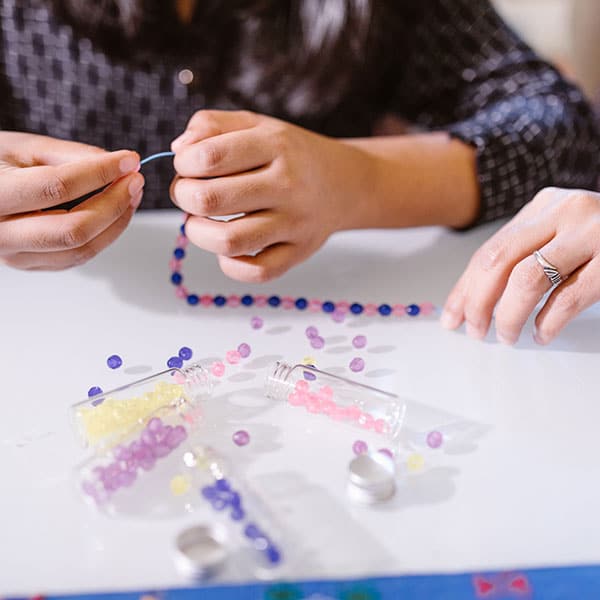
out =
{"type": "Polygon", "coordinates": [[[406,403],[396,394],[307,365],[277,362],[267,376],[268,398],[371,431],[398,442],[406,403]]]}

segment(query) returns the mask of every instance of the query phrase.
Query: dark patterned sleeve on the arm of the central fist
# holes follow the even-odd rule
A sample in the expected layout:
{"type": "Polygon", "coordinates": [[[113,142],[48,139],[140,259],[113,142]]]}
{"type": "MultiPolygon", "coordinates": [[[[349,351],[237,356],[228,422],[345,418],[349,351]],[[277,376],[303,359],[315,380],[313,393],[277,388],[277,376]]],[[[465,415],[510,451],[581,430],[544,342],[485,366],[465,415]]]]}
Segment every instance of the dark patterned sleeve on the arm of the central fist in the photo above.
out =
{"type": "Polygon", "coordinates": [[[575,86],[487,0],[421,0],[395,108],[477,150],[473,225],[514,214],[549,185],[595,188],[600,132],[575,86]]]}

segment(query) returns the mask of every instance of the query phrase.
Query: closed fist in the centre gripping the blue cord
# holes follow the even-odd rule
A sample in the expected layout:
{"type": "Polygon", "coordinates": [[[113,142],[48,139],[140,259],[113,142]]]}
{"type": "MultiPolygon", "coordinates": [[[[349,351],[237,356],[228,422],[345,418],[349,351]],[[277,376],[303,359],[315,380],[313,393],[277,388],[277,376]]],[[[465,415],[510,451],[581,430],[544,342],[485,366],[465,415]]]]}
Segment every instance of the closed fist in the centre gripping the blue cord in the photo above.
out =
{"type": "Polygon", "coordinates": [[[171,197],[192,215],[186,234],[233,279],[278,277],[333,232],[360,227],[370,208],[369,155],[277,119],[200,111],[172,149],[171,197]]]}

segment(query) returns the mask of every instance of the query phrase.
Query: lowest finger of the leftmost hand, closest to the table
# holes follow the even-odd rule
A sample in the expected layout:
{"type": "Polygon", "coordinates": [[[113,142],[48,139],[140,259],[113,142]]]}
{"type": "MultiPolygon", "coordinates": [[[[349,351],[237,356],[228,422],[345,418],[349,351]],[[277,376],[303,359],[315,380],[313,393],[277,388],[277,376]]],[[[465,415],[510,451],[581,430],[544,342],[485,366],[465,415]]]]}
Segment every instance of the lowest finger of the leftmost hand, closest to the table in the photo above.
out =
{"type": "Polygon", "coordinates": [[[130,206],[108,229],[79,248],[61,252],[20,252],[4,257],[2,262],[17,269],[44,271],[61,271],[82,265],[112,244],[125,231],[134,212],[135,209],[130,206]]]}

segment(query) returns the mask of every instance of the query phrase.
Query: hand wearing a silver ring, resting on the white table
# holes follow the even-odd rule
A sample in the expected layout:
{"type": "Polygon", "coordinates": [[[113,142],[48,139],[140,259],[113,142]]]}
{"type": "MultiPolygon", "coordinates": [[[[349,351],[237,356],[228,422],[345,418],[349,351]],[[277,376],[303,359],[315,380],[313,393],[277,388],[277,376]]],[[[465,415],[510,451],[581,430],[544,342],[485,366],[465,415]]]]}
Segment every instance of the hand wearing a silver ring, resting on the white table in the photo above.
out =
{"type": "Polygon", "coordinates": [[[514,344],[529,315],[552,287],[534,257],[556,266],[566,281],[535,319],[539,344],[553,340],[581,311],[600,300],[600,195],[548,188],[492,236],[471,259],[450,293],[442,325],[483,338],[496,304],[496,336],[514,344]]]}

